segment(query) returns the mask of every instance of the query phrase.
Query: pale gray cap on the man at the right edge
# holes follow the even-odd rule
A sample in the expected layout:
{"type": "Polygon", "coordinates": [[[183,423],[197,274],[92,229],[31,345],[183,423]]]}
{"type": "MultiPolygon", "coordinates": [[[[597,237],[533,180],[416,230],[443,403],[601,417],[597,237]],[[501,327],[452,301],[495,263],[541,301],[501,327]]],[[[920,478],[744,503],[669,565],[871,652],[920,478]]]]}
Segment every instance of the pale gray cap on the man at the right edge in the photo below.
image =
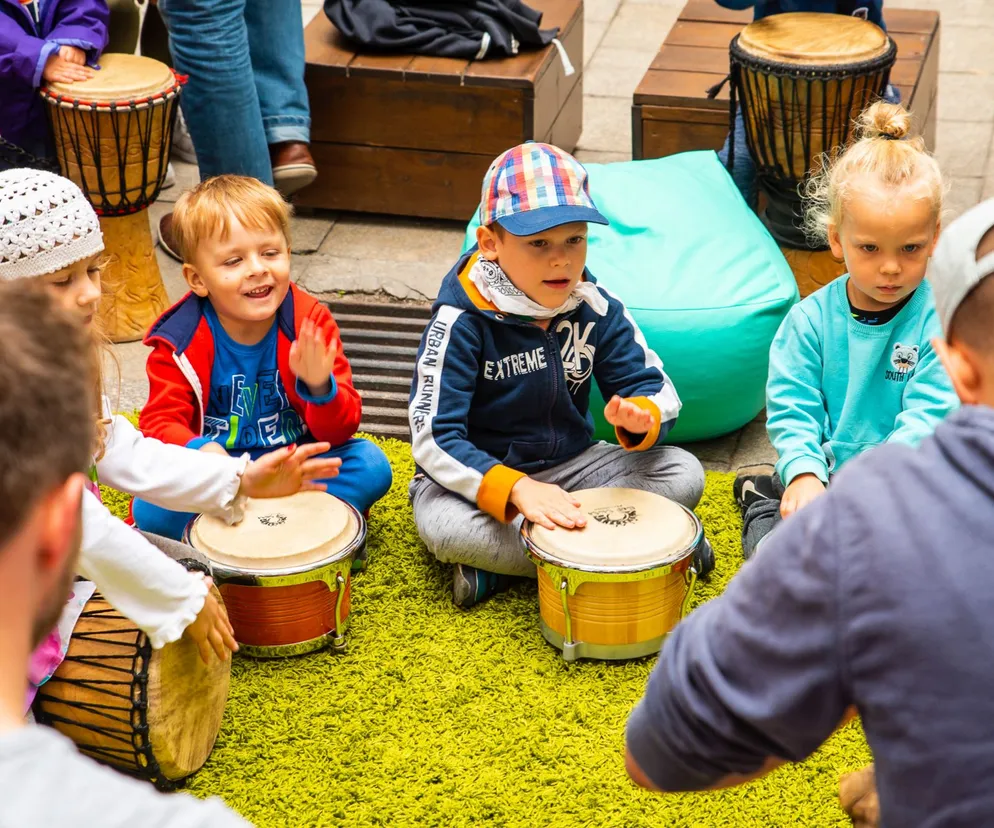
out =
{"type": "Polygon", "coordinates": [[[977,247],[994,228],[994,198],[971,207],[942,229],[932,254],[928,280],[943,333],[949,333],[953,316],[967,294],[994,274],[994,253],[977,260],[977,247]]]}

